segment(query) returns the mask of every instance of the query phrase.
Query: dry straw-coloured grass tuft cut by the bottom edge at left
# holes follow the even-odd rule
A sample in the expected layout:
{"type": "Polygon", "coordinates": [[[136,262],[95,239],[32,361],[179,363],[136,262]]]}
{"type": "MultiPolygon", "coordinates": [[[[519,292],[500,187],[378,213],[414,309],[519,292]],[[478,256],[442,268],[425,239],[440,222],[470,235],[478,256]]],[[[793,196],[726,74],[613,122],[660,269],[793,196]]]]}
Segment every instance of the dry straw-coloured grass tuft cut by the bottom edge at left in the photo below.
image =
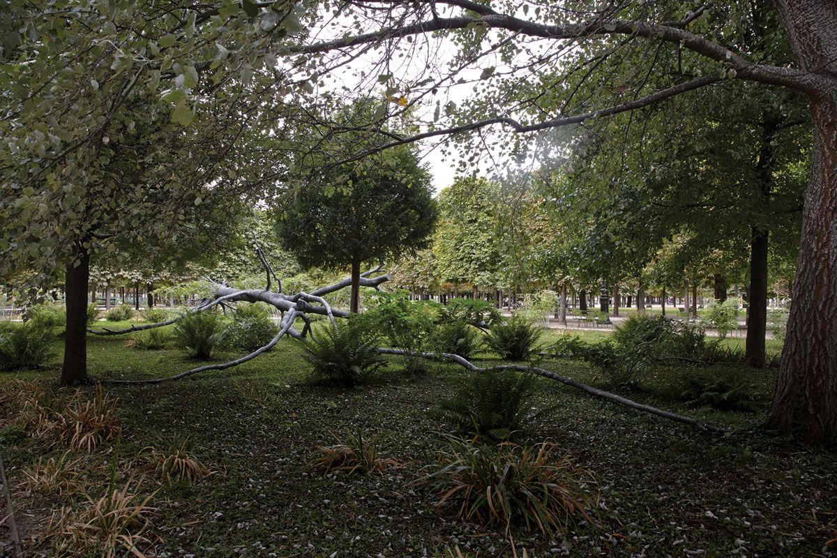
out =
{"type": "Polygon", "coordinates": [[[157,492],[143,498],[138,492],[139,484],[131,488],[132,482],[133,479],[128,479],[122,489],[111,486],[98,499],[85,493],[87,501],[80,508],[61,509],[49,534],[55,556],[144,558],[146,554],[141,549],[147,551],[153,546],[146,536],[151,531],[148,517],[157,511],[148,502],[157,492]]]}

